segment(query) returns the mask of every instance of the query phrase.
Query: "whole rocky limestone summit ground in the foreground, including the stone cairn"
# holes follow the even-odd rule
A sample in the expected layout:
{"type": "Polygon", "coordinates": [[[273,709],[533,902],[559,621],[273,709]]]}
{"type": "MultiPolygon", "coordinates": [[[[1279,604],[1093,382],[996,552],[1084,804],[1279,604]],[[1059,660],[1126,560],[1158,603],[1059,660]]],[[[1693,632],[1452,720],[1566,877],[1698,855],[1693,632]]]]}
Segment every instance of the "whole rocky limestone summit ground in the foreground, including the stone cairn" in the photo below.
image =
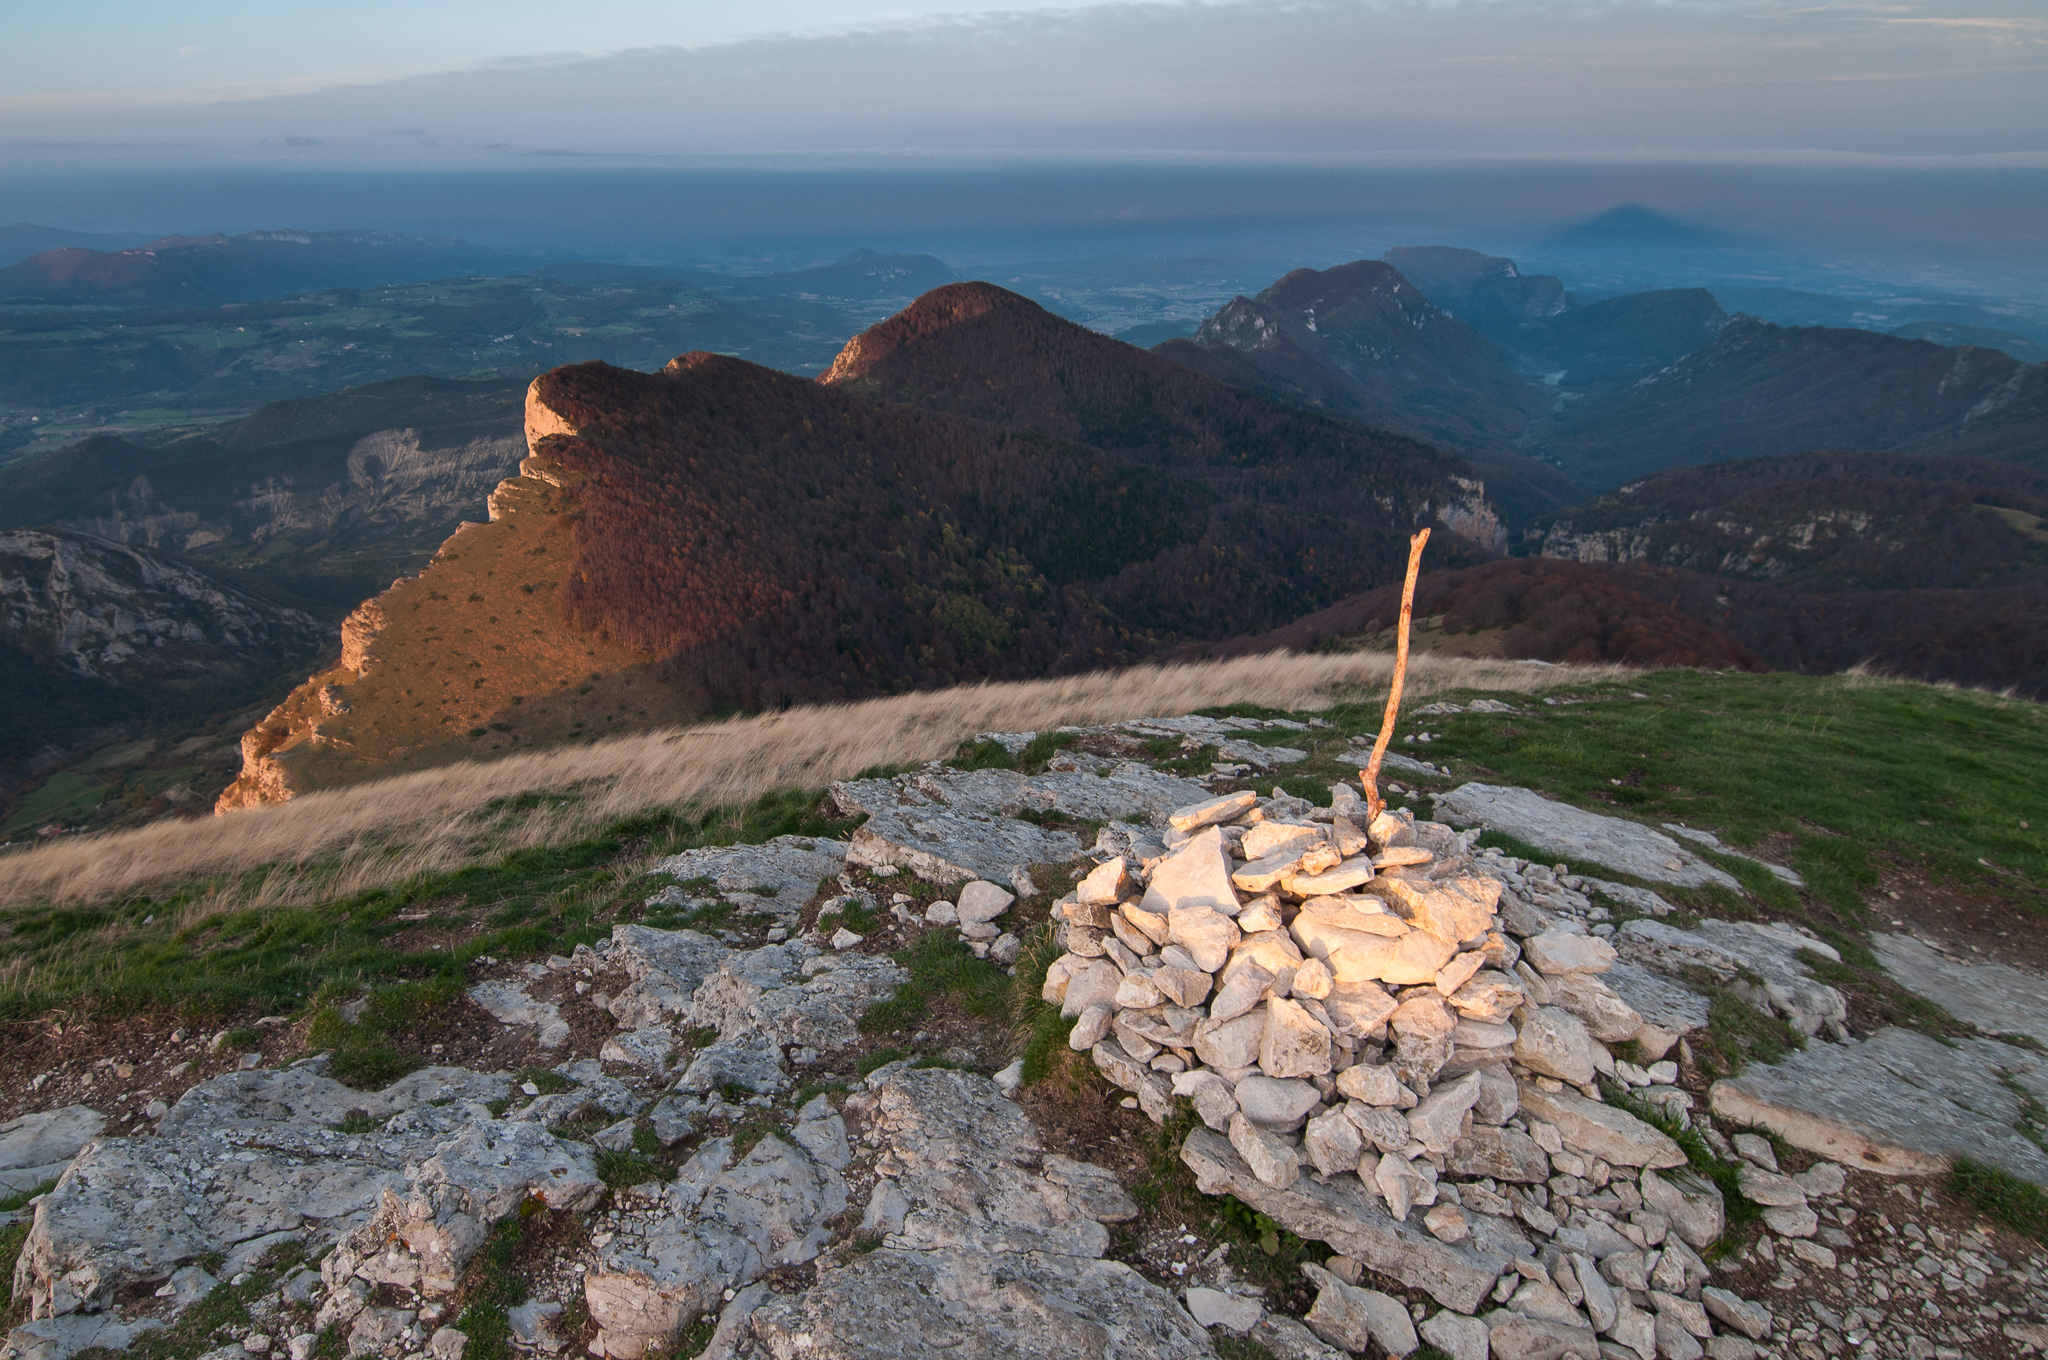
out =
{"type": "MultiPolygon", "coordinates": [[[[1036,774],[834,784],[848,840],[662,860],[649,909],[743,926],[475,959],[504,1067],[360,1090],[223,1030],[141,1116],[0,1124],[0,1186],[55,1182],[12,1229],[6,1360],[2048,1348],[2038,1245],[1923,1180],[1966,1153],[2048,1184],[2023,987],[1972,1012],[2005,1038],[1851,1030],[1833,946],[1673,905],[1735,883],[1702,832],[1495,784],[1368,817],[1139,756],[1270,772],[1319,737],[1292,719],[1057,735],[1036,774]],[[975,1028],[932,959],[1028,989],[975,1028]],[[1712,1079],[1694,1045],[1737,1004],[1794,1051],[1712,1079]]],[[[2013,973],[1880,944],[1923,993],[2013,973]]]]}

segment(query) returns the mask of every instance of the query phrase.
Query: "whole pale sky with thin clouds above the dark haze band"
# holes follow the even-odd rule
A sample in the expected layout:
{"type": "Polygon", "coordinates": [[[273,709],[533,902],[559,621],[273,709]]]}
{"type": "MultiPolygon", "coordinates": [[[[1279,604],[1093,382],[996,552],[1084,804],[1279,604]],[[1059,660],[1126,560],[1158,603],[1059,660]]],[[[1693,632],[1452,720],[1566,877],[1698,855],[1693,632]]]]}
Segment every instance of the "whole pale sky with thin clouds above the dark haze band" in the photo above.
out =
{"type": "Polygon", "coordinates": [[[0,168],[2048,168],[2040,0],[80,0],[0,168]]]}

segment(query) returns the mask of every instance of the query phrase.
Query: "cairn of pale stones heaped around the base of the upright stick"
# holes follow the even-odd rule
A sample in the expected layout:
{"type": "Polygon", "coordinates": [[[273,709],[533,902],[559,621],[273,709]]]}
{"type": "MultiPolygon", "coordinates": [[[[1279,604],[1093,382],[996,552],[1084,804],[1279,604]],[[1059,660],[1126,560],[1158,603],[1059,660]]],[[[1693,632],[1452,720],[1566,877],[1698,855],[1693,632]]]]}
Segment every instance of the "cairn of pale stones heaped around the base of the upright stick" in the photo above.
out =
{"type": "Polygon", "coordinates": [[[1769,1315],[1698,1256],[1718,1192],[1602,1100],[1683,1098],[1675,1063],[1610,1049],[1673,1038],[1602,981],[1614,946],[1505,893],[1532,866],[1477,834],[1364,813],[1346,784],[1327,809],[1233,793],[1174,811],[1163,856],[1104,860],[1055,909],[1071,1045],[1159,1122],[1192,1104],[1204,1190],[1339,1249],[1309,1319],[1333,1344],[1419,1344],[1370,1268],[1446,1305],[1423,1335],[1460,1360],[1753,1356],[1769,1315]]]}

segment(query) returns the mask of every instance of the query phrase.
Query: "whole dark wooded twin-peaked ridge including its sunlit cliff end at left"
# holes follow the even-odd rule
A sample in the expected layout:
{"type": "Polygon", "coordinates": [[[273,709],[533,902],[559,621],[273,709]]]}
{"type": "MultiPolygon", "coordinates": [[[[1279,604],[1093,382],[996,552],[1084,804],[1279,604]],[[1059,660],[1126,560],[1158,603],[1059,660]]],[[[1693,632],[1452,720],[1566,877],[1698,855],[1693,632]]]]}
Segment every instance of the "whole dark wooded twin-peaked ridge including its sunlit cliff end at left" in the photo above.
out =
{"type": "Polygon", "coordinates": [[[221,811],[719,705],[1102,670],[1399,580],[1417,522],[1452,559],[1503,541],[1434,449],[987,285],[848,354],[831,383],[707,352],[537,379],[489,524],[356,610],[221,811]],[[1022,360],[1038,342],[1063,369],[1022,360]]]}

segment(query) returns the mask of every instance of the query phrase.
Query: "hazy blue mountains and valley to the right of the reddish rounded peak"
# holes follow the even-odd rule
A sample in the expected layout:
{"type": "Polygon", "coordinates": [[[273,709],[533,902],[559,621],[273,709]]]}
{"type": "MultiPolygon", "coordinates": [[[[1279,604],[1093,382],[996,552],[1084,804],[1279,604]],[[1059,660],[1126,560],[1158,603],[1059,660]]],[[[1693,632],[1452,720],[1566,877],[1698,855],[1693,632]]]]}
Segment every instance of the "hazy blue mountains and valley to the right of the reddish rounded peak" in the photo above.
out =
{"type": "Polygon", "coordinates": [[[1458,449],[1518,522],[1665,467],[1810,449],[2048,465],[2048,367],[2003,350],[1731,317],[1704,289],[1581,301],[1440,246],[1296,270],[1157,352],[1458,449]]]}

